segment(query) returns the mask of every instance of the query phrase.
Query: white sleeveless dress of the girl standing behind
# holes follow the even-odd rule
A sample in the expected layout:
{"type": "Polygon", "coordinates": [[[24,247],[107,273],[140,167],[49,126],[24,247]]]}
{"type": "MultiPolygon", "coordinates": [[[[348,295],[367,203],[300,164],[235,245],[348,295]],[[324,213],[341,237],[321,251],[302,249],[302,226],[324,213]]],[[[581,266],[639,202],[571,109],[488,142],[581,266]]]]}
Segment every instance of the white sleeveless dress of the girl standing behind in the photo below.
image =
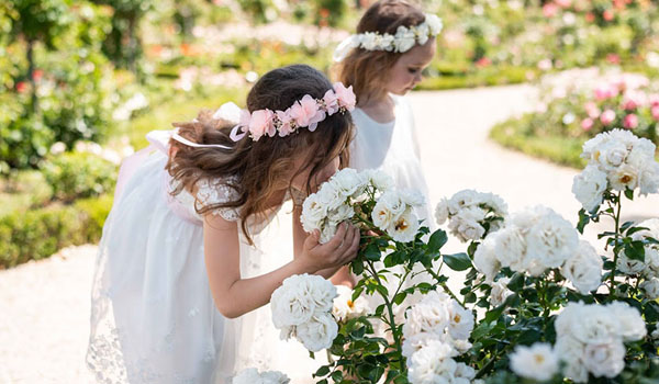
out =
{"type": "Polygon", "coordinates": [[[434,229],[412,108],[404,97],[390,97],[394,102],[395,118],[392,122],[378,123],[359,108],[353,111],[357,134],[350,146],[350,168],[382,170],[393,178],[396,188],[423,193],[426,204],[417,208],[416,214],[424,219],[424,225],[434,229]]]}

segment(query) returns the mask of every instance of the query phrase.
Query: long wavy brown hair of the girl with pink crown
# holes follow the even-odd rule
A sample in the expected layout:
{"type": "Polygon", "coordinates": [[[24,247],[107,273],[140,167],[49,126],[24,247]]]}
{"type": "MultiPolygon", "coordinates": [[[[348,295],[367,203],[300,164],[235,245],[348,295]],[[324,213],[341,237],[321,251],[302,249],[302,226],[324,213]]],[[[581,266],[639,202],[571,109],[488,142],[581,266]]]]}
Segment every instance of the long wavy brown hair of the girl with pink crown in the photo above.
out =
{"type": "MultiPolygon", "coordinates": [[[[269,109],[284,111],[305,94],[322,99],[332,83],[319,70],[306,65],[293,65],[278,68],[264,75],[254,84],[247,95],[247,109],[269,109]]],[[[353,121],[349,113],[335,113],[320,122],[314,132],[300,128],[286,137],[264,136],[258,142],[245,137],[237,143],[230,138],[232,124],[211,118],[211,113],[201,112],[198,118],[189,123],[176,123],[179,134],[192,142],[202,144],[222,144],[232,149],[192,148],[171,140],[174,156],[167,163],[167,170],[178,188],[193,192],[200,180],[221,180],[235,191],[237,199],[222,204],[200,206],[197,212],[205,214],[220,208],[238,208],[242,229],[252,242],[247,229],[247,218],[266,213],[267,202],[282,189],[291,190],[292,178],[304,169],[297,170],[290,177],[295,158],[305,155],[304,163],[311,167],[306,180],[308,193],[311,192],[313,178],[336,156],[340,166],[347,166],[347,147],[353,137],[353,121]]],[[[306,168],[306,167],[305,167],[306,168]]],[[[309,168],[306,168],[309,169],[309,168]]],[[[199,202],[197,202],[199,203],[199,202]]]]}

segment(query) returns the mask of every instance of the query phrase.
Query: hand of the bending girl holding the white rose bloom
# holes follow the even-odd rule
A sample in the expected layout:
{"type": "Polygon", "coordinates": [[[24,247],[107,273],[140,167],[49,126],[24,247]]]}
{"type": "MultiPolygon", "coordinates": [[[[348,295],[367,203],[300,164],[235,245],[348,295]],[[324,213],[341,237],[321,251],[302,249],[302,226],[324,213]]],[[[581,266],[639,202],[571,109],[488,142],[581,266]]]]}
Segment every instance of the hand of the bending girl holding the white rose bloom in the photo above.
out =
{"type": "Polygon", "coordinates": [[[357,257],[359,250],[359,228],[348,223],[342,223],[334,237],[326,244],[320,244],[321,233],[314,230],[306,240],[300,262],[317,272],[328,268],[347,264],[357,257]]]}

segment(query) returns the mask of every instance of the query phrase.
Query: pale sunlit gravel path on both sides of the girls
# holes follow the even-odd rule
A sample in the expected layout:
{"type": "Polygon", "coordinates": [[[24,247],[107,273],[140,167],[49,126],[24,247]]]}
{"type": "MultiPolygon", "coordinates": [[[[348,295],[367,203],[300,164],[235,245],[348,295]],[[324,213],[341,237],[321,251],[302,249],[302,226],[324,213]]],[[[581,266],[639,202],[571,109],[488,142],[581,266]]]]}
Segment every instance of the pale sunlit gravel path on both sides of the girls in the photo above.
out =
{"type": "MultiPolygon", "coordinates": [[[[530,111],[534,97],[529,86],[411,95],[433,203],[472,188],[500,194],[511,211],[541,203],[574,222],[576,170],[488,140],[492,124],[530,111]]],[[[659,216],[659,196],[639,199],[624,211],[636,219],[659,216]]],[[[587,237],[594,239],[594,228],[587,237]]],[[[447,247],[463,249],[454,240],[447,247]]],[[[82,246],[0,271],[0,383],[90,382],[83,357],[94,256],[96,247],[82,246]]]]}

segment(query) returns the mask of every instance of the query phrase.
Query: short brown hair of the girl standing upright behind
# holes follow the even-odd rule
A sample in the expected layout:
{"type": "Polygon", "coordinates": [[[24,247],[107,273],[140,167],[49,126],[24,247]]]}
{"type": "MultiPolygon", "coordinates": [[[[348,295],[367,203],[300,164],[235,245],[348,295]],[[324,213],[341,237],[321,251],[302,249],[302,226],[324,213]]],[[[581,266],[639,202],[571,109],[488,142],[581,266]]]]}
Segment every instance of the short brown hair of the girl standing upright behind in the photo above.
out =
{"type": "MultiPolygon", "coordinates": [[[[406,0],[380,0],[366,10],[357,33],[377,32],[394,35],[399,26],[418,25],[425,14],[416,4],[406,0]]],[[[357,103],[384,92],[386,77],[401,53],[387,50],[353,49],[338,65],[338,78],[346,86],[353,86],[357,103]]]]}

